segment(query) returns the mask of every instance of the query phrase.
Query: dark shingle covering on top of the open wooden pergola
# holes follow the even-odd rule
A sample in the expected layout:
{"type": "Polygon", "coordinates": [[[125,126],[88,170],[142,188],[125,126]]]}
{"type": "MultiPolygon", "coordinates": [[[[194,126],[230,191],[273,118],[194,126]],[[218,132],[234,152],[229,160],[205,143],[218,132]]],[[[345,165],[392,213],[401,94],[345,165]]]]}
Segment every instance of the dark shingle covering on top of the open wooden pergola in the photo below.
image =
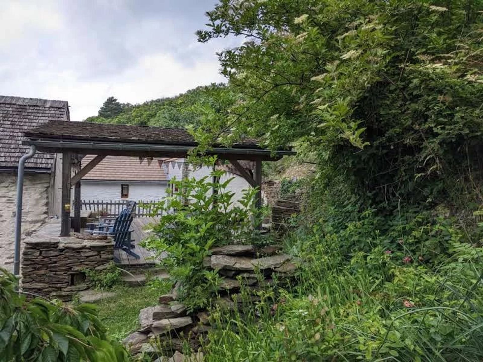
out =
{"type": "MultiPolygon", "coordinates": [[[[193,137],[184,128],[160,128],[136,125],[72,122],[68,125],[50,122],[25,133],[35,138],[113,141],[128,143],[175,144],[196,146],[193,137]]],[[[233,148],[259,148],[255,139],[245,139],[233,148]]]]}

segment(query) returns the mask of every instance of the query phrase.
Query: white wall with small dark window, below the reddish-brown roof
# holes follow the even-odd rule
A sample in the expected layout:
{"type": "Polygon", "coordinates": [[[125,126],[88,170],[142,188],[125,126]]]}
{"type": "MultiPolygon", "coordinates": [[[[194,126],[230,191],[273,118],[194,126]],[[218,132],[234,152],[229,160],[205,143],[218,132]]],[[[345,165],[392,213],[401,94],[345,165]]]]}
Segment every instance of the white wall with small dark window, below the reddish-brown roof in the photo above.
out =
{"type": "Polygon", "coordinates": [[[166,194],[167,182],[82,180],[81,199],[104,201],[122,200],[121,184],[129,185],[128,200],[159,200],[166,194]]]}

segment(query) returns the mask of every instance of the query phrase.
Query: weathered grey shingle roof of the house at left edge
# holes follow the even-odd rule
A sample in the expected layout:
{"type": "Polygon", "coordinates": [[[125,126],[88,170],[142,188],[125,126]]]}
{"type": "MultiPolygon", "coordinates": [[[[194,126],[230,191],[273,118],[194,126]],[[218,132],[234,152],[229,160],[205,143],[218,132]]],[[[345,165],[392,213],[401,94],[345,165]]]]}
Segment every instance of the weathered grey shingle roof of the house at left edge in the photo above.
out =
{"type": "MultiPolygon", "coordinates": [[[[0,169],[18,167],[29,147],[22,145],[22,133],[47,122],[69,121],[69,105],[62,100],[0,96],[0,169]]],[[[25,167],[50,169],[51,153],[37,153],[25,167]]]]}

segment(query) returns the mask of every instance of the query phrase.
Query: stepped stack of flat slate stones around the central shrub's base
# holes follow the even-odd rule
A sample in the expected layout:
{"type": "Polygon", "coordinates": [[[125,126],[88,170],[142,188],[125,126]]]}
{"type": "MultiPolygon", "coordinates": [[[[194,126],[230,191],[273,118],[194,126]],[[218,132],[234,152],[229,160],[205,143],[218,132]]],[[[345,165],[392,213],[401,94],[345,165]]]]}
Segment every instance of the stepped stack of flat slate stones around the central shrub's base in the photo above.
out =
{"type": "MultiPolygon", "coordinates": [[[[256,249],[252,245],[227,245],[212,249],[212,255],[204,260],[204,265],[217,269],[222,276],[220,295],[213,305],[234,309],[237,302],[241,303],[238,292],[242,285],[257,289],[260,284],[270,284],[273,274],[279,278],[291,277],[297,269],[296,262],[279,251],[278,246],[256,249]]],[[[158,306],[141,310],[141,328],[124,340],[132,354],[166,356],[156,361],[201,361],[200,341],[205,340],[211,329],[209,311],[187,314],[185,306],[176,300],[178,288],[179,284],[169,294],[161,295],[158,306]],[[184,342],[193,351],[198,350],[198,353],[182,355],[180,352],[183,351],[184,342]]],[[[253,296],[252,301],[256,300],[256,296],[253,296]]]]}

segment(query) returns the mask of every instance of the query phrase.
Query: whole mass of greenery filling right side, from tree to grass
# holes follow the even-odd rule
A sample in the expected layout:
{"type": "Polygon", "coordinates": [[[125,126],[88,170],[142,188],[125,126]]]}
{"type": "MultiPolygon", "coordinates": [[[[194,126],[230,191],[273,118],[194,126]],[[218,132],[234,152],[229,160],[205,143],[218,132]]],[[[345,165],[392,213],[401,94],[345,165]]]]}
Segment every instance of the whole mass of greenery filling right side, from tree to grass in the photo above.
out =
{"type": "MultiPolygon", "coordinates": [[[[207,42],[240,94],[195,135],[319,166],[297,285],[215,314],[209,361],[479,361],[482,1],[222,0],[207,42]]],[[[290,187],[288,183],[285,185],[290,187]]]]}

